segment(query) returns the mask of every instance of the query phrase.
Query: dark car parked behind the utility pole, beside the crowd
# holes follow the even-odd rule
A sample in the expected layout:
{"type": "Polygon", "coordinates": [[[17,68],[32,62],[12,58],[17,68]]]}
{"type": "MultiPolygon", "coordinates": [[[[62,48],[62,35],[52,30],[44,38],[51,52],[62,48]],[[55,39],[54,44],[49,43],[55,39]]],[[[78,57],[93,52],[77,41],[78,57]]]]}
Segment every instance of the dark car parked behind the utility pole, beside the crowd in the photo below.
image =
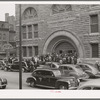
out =
{"type": "MultiPolygon", "coordinates": [[[[12,64],[8,64],[7,67],[4,68],[5,71],[19,71],[19,61],[14,61],[12,64]]],[[[29,66],[26,62],[22,61],[22,72],[29,72],[29,66]]]]}

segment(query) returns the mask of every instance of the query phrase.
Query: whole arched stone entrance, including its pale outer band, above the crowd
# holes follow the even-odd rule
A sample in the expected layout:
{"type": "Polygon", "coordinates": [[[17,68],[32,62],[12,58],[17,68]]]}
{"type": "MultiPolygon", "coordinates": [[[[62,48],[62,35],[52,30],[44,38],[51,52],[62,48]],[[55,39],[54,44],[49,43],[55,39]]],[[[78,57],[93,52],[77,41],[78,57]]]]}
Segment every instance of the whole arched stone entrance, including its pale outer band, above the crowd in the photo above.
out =
{"type": "Polygon", "coordinates": [[[78,56],[83,58],[82,45],[78,38],[67,31],[57,31],[53,33],[45,42],[43,54],[46,53],[72,53],[77,52],[78,56]]]}

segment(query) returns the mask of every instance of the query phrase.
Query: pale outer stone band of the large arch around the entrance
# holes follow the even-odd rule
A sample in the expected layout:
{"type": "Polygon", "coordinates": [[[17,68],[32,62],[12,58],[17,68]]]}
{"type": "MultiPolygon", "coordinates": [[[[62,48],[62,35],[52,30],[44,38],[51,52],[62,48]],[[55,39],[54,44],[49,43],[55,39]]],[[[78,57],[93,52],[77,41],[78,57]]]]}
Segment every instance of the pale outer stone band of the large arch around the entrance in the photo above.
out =
{"type": "MultiPolygon", "coordinates": [[[[72,33],[70,32],[67,32],[67,31],[57,31],[57,32],[54,32],[53,34],[51,34],[48,39],[46,40],[45,44],[44,44],[44,47],[43,47],[43,54],[46,54],[48,53],[47,52],[47,49],[48,49],[48,46],[50,44],[50,42],[55,39],[56,37],[67,37],[71,42],[72,44],[74,43],[74,45],[76,46],[76,49],[77,49],[77,52],[79,54],[79,57],[80,58],[83,58],[84,57],[84,50],[83,50],[83,47],[82,47],[82,44],[81,42],[79,41],[79,39],[72,33]]],[[[68,41],[69,41],[68,40],[68,41]]],[[[67,41],[67,40],[66,40],[67,41]]],[[[58,41],[57,41],[58,42],[58,41]]],[[[55,43],[56,44],[56,43],[55,43]]],[[[54,44],[54,45],[55,45],[54,44]]],[[[54,45],[52,46],[52,49],[54,47],[54,45]]]]}

